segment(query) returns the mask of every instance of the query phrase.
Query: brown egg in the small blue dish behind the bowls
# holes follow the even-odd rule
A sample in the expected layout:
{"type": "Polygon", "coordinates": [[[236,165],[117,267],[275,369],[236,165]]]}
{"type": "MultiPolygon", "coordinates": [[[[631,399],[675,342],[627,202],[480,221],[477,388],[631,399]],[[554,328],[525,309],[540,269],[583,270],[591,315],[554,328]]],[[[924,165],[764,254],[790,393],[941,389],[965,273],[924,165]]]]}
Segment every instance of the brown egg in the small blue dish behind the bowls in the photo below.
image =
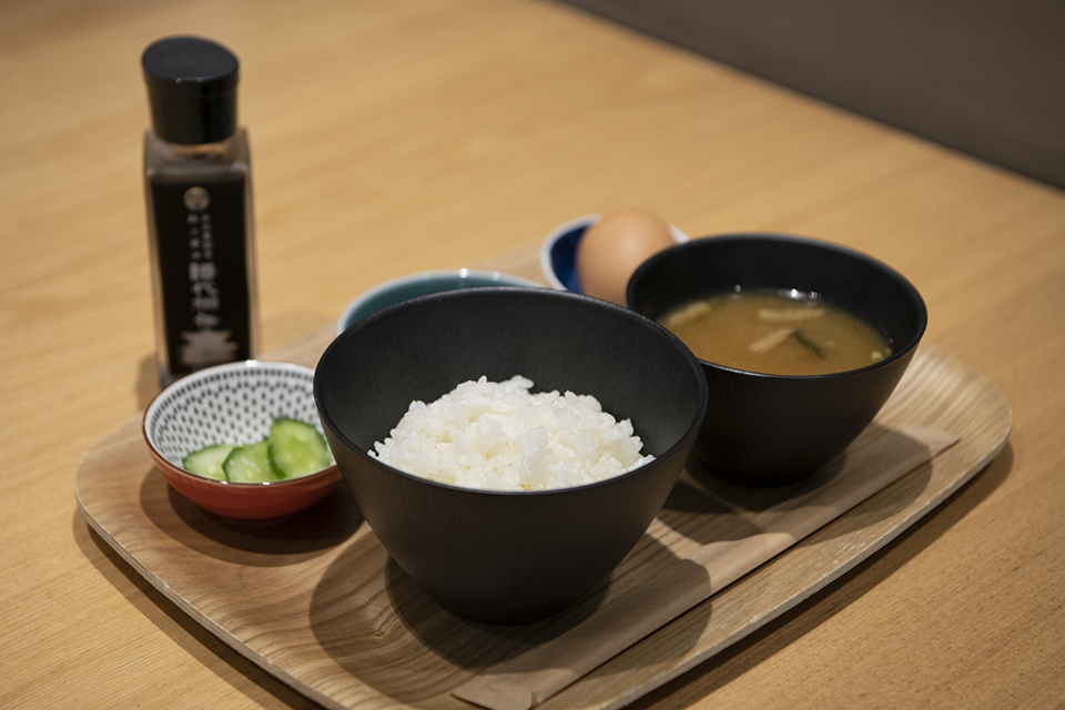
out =
{"type": "Polygon", "coordinates": [[[577,276],[582,291],[625,305],[625,287],[632,272],[672,244],[669,224],[653,212],[626,207],[604,213],[577,245],[577,276]]]}

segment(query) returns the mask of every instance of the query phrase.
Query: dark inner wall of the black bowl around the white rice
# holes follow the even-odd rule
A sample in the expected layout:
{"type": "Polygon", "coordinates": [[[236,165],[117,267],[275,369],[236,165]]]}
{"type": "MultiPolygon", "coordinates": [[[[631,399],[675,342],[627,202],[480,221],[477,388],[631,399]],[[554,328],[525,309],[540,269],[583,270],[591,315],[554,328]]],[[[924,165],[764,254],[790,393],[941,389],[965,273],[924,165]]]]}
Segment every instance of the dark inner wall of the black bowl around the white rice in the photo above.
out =
{"type": "Polygon", "coordinates": [[[410,402],[481,376],[514,375],[531,379],[534,392],[595,396],[618,419],[632,419],[645,452],[656,456],[692,430],[706,406],[698,362],[665,328],[627,308],[546,288],[442,293],[368,316],[326,349],[315,395],[326,426],[365,452],[410,402]]]}

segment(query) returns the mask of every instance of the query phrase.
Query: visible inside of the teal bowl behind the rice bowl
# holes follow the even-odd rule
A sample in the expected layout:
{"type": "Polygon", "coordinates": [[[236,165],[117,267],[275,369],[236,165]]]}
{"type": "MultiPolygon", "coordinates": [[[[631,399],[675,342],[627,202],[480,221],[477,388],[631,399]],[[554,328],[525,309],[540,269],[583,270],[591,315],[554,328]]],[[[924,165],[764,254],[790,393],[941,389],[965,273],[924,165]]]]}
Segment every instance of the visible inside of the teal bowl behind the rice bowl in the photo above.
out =
{"type": "Polygon", "coordinates": [[[353,300],[344,313],[341,314],[336,325],[336,333],[339,335],[356,321],[366,317],[371,313],[376,313],[382,308],[388,307],[407,298],[416,298],[430,293],[442,291],[455,291],[458,288],[481,288],[486,286],[526,286],[537,287],[539,284],[511,276],[495,271],[476,271],[469,268],[457,268],[454,271],[433,271],[419,274],[399,276],[386,281],[369,288],[353,300]]]}

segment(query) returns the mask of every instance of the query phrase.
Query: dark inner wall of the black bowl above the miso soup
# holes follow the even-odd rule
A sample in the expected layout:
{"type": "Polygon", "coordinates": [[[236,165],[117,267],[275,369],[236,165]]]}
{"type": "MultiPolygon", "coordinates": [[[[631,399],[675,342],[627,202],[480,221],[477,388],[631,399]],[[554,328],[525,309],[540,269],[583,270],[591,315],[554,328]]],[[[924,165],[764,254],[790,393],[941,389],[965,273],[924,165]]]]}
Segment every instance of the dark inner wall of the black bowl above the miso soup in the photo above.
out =
{"type": "Polygon", "coordinates": [[[819,294],[881,329],[892,348],[886,359],[913,349],[927,325],[921,295],[894,270],[845,247],[784,235],[713,236],[670,247],[633,273],[627,300],[638,313],[659,318],[736,286],[819,294]]]}

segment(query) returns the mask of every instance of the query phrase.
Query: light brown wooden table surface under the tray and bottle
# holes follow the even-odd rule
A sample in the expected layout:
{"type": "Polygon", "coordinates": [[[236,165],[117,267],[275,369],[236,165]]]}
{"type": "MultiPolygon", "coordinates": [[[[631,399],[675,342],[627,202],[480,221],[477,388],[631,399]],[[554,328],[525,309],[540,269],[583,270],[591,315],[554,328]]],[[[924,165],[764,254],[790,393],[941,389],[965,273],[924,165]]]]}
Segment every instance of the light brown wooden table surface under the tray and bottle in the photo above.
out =
{"type": "Polygon", "coordinates": [[[400,274],[638,204],[865,251],[1011,443],[840,582],[639,708],[1065,702],[1065,194],[547,0],[0,6],[0,707],[313,707],[91,532],[81,454],[156,390],[139,59],[242,60],[265,347],[400,274]]]}

